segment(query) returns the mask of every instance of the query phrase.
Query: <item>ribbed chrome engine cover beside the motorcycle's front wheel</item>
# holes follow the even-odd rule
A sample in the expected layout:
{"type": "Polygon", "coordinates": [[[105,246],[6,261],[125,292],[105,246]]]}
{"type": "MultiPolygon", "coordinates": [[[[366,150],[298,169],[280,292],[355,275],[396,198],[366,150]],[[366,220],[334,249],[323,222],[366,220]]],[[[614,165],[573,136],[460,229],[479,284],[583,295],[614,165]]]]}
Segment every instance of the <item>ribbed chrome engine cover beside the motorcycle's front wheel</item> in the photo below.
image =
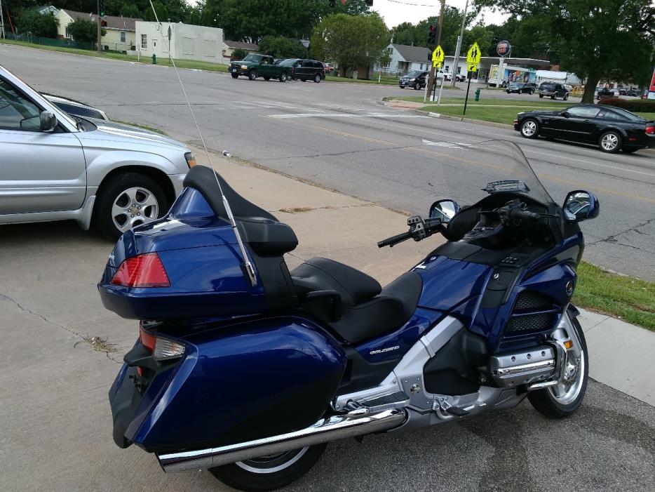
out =
{"type": "Polygon", "coordinates": [[[501,387],[544,381],[555,374],[555,366],[555,351],[547,345],[527,352],[497,355],[489,360],[489,372],[501,387]]]}

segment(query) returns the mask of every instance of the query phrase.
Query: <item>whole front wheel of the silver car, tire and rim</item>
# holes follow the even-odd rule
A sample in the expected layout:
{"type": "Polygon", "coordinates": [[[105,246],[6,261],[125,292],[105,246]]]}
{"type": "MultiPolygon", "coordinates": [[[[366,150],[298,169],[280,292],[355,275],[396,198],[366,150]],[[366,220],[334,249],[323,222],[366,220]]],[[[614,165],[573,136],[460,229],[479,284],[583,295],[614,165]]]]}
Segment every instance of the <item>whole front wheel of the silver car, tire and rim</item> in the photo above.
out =
{"type": "Polygon", "coordinates": [[[167,212],[168,200],[158,182],[139,173],[123,173],[103,183],[93,208],[93,224],[104,237],[116,241],[123,232],[167,212]]]}

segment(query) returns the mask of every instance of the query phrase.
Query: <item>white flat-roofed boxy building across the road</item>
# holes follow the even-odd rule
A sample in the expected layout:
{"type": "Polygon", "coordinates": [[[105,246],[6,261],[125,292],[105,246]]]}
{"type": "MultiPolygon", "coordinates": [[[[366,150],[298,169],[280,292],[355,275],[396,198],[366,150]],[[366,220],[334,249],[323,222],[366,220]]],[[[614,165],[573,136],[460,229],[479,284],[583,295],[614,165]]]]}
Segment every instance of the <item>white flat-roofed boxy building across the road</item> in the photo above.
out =
{"type": "Polygon", "coordinates": [[[223,29],[182,22],[136,22],[137,49],[143,56],[227,63],[223,29]],[[170,29],[170,43],[168,41],[170,29]]]}

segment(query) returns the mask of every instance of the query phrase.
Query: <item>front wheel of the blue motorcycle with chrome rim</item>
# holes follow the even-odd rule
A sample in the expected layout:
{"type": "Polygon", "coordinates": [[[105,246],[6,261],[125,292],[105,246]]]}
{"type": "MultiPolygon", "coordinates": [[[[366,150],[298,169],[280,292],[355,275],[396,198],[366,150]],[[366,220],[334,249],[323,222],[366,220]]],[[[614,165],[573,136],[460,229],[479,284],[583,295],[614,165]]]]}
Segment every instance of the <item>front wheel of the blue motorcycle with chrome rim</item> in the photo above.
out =
{"type": "MultiPolygon", "coordinates": [[[[565,316],[568,317],[569,314],[567,313],[565,316]]],[[[589,379],[587,343],[578,320],[569,318],[569,321],[570,324],[567,328],[558,328],[553,333],[553,338],[560,343],[570,340],[572,344],[565,351],[564,371],[558,384],[530,392],[527,395],[527,399],[536,411],[548,418],[562,418],[571,415],[582,403],[587,390],[589,379]]]]}

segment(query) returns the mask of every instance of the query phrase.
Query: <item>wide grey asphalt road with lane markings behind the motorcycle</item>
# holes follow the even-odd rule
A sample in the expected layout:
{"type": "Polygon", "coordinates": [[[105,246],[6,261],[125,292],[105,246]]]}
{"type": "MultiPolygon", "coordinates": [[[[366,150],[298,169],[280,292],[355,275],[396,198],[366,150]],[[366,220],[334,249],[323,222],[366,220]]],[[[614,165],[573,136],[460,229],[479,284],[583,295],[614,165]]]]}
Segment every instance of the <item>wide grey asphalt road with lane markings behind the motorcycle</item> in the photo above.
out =
{"type": "MultiPolygon", "coordinates": [[[[198,143],[172,68],[0,46],[2,65],[35,88],[88,102],[110,117],[161,128],[198,143]]],[[[378,204],[426,213],[434,199],[471,202],[457,172],[484,168],[481,140],[518,142],[556,201],[569,190],[594,192],[600,218],[583,222],[585,258],[655,281],[655,154],[603,154],[583,145],[525,140],[508,128],[419,117],[379,104],[413,93],[396,86],[278,81],[180,70],[211,149],[378,204]]],[[[482,91],[482,97],[521,100],[482,91]]],[[[449,91],[450,95],[450,91],[449,91]]],[[[562,103],[563,104],[563,103],[562,103]]],[[[484,179],[481,178],[482,181],[484,179]]],[[[404,227],[398,225],[401,232],[404,227]]],[[[301,238],[302,241],[302,238],[301,238]]]]}

